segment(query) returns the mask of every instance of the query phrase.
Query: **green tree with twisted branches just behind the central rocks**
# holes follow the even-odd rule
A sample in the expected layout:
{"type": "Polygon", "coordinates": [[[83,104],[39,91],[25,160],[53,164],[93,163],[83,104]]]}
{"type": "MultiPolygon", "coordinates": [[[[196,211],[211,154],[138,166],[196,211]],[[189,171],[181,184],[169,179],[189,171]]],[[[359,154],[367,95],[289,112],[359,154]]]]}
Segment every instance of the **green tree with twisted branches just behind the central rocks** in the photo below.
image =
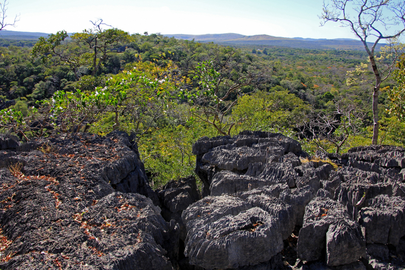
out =
{"type": "Polygon", "coordinates": [[[255,91],[266,83],[266,68],[261,71],[257,66],[246,67],[237,72],[238,65],[244,60],[236,49],[224,48],[213,61],[203,61],[195,67],[194,80],[198,87],[195,91],[184,89],[180,93],[186,99],[190,120],[212,125],[219,134],[230,135],[237,122],[230,113],[239,97],[246,92],[255,91]],[[246,88],[248,87],[248,88],[246,88]]]}

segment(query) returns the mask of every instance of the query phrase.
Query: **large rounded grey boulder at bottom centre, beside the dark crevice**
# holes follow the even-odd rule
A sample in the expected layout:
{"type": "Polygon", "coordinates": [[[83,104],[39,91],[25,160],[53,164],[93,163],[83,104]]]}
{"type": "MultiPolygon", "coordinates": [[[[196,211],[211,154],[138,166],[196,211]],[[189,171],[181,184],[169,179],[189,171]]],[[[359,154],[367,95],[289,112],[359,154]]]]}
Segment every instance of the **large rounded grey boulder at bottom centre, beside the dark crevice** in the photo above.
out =
{"type": "Polygon", "coordinates": [[[282,248],[276,219],[254,207],[201,227],[188,239],[185,255],[210,270],[269,261],[282,248]]]}

